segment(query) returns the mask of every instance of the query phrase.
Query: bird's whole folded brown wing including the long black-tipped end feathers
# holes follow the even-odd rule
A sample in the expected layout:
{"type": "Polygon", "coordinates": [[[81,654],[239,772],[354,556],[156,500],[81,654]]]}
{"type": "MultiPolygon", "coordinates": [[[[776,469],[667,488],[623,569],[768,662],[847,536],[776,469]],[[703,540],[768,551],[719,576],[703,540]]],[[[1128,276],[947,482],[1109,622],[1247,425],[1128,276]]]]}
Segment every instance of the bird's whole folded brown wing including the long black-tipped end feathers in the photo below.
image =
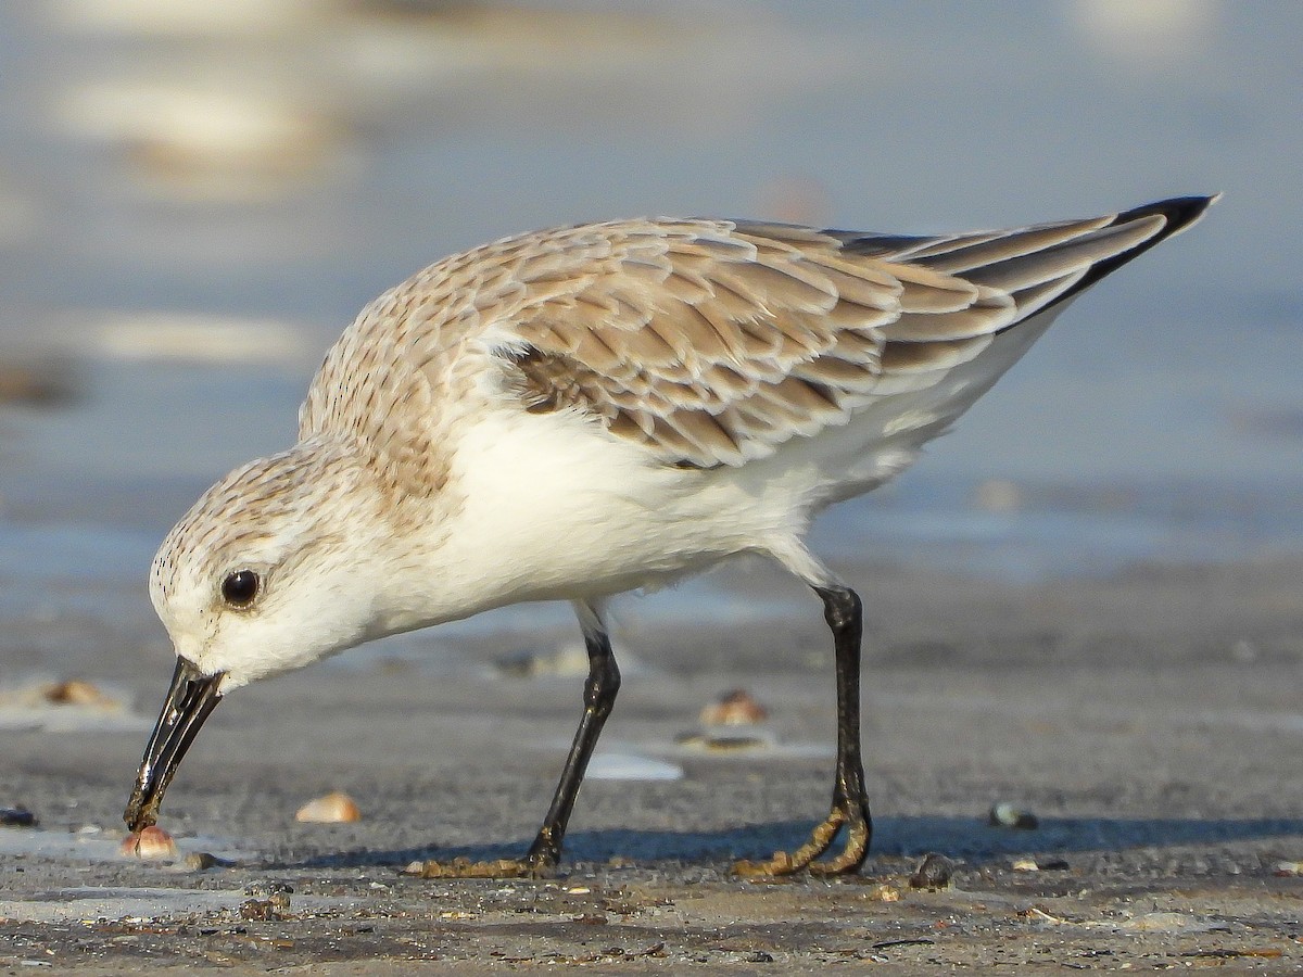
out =
{"type": "Polygon", "coordinates": [[[741,465],[936,383],[1208,203],[947,237],[572,228],[517,251],[523,294],[490,333],[530,410],[581,412],[667,465],[741,465]]]}

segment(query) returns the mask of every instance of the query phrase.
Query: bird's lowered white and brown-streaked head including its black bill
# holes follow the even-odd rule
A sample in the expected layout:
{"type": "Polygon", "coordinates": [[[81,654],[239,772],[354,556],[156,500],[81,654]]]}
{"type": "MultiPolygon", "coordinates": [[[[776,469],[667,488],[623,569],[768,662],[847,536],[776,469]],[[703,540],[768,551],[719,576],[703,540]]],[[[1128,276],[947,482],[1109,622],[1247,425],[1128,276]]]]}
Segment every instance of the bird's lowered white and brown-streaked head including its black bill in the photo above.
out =
{"type": "Polygon", "coordinates": [[[155,823],[163,792],[224,694],[377,633],[390,535],[345,446],[301,442],[236,469],[168,533],[150,597],[177,663],[125,813],[155,823]]]}

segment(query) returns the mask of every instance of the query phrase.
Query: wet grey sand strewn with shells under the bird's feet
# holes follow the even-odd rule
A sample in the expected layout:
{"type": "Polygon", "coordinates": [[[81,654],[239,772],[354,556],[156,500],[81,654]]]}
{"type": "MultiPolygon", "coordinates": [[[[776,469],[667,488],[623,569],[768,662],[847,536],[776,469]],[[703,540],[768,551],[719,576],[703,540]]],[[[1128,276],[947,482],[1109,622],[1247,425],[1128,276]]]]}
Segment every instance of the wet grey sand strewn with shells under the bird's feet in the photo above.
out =
{"type": "Polygon", "coordinates": [[[683,775],[588,782],[562,875],[543,882],[400,869],[528,844],[577,720],[580,679],[496,662],[547,659],[573,641],[569,629],[431,634],[233,694],[168,792],[160,823],[181,858],[162,864],[116,855],[171,671],[156,630],[143,616],[44,632],[7,623],[10,692],[39,671],[40,642],[57,640],[77,672],[64,677],[124,709],[20,714],[12,694],[0,700],[0,806],[39,818],[0,828],[0,965],[1303,965],[1303,878],[1289,874],[1303,858],[1303,563],[1035,586],[843,571],[872,608],[864,743],[876,838],[864,873],[838,881],[728,874],[735,857],[799,843],[829,792],[831,651],[817,602],[800,603],[767,572],[722,582],[791,599],[799,614],[638,624],[632,606],[605,762],[616,778],[633,761],[683,775]],[[408,654],[422,641],[427,659],[408,654]],[[767,706],[767,745],[679,743],[702,705],[737,687],[767,706]],[[331,789],[351,793],[362,821],[294,821],[331,789]],[[1037,826],[992,826],[995,802],[1037,826]],[[186,868],[195,852],[229,864],[186,868]],[[911,887],[932,852],[952,862],[951,878],[911,887]]]}

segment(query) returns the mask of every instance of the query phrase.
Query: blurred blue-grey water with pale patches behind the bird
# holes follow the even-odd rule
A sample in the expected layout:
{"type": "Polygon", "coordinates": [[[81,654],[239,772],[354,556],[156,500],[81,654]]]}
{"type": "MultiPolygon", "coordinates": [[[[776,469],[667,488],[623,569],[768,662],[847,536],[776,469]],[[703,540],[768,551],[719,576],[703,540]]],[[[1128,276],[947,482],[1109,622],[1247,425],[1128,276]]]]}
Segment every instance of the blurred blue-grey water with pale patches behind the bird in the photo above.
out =
{"type": "Polygon", "coordinates": [[[0,4],[0,621],[150,616],[162,535],[292,443],[366,301],[638,214],[929,232],[1224,190],[818,546],[1015,580],[1298,554],[1299,51],[1296,0],[0,4]]]}

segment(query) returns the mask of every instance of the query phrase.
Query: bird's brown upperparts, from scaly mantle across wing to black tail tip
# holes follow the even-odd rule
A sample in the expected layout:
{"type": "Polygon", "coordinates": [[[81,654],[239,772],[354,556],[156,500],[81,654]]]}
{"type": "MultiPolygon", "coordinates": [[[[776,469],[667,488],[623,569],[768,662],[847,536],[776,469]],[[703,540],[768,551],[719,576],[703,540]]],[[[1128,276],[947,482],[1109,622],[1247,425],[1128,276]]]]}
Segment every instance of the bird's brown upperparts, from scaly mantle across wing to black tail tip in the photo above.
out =
{"type": "Polygon", "coordinates": [[[356,439],[395,491],[439,491],[455,422],[496,396],[487,369],[529,410],[580,412],[662,464],[740,465],[929,387],[1208,203],[946,237],[629,220],[506,238],[367,306],[300,435],[356,439]]]}

